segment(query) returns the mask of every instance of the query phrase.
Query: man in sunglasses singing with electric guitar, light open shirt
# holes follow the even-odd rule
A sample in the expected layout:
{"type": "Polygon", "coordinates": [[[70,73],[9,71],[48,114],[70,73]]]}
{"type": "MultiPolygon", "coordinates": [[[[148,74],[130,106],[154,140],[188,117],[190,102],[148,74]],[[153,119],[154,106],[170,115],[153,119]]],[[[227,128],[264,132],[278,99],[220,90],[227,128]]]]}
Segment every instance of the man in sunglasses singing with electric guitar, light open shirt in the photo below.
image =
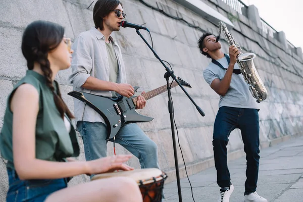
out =
{"type": "MultiPolygon", "coordinates": [[[[73,44],[72,75],[74,90],[117,97],[130,97],[134,88],[126,82],[126,70],[121,49],[110,36],[120,30],[125,18],[122,4],[117,0],[98,0],[93,8],[95,27],[79,34],[73,44]]],[[[145,107],[146,100],[138,96],[136,109],[145,107]]],[[[107,156],[107,126],[92,108],[74,99],[77,130],[80,132],[87,161],[107,156]]],[[[135,123],[125,124],[115,136],[139,159],[141,168],[158,168],[157,144],[135,123]]],[[[110,140],[110,141],[113,141],[110,140]]]]}

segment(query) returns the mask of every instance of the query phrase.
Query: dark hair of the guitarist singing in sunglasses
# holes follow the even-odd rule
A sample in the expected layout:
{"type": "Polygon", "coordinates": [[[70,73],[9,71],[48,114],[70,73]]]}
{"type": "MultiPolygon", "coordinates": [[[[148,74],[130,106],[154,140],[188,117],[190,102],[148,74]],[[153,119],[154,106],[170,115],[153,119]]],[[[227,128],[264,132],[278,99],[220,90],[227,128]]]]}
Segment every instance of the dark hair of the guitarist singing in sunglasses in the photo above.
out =
{"type": "Polygon", "coordinates": [[[93,7],[93,22],[95,28],[103,30],[103,18],[109,15],[111,11],[117,8],[122,3],[119,0],[98,0],[93,7]]]}

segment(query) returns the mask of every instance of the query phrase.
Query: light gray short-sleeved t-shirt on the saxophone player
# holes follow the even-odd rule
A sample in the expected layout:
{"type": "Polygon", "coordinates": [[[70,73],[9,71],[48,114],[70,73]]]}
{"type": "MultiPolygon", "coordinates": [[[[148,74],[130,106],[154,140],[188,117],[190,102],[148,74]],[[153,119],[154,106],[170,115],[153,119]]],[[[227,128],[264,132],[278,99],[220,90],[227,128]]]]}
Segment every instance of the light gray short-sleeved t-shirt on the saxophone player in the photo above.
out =
{"type": "MultiPolygon", "coordinates": [[[[224,68],[228,68],[227,59],[221,58],[217,60],[224,68]]],[[[234,69],[239,69],[236,63],[234,69]]],[[[214,79],[222,80],[226,70],[222,69],[214,63],[210,63],[208,67],[203,71],[203,76],[205,81],[211,85],[214,79]]],[[[225,96],[220,95],[219,108],[222,106],[235,107],[235,108],[250,108],[250,109],[260,109],[256,99],[252,96],[249,85],[244,80],[242,74],[233,73],[231,76],[231,82],[229,89],[227,90],[225,96]]]]}

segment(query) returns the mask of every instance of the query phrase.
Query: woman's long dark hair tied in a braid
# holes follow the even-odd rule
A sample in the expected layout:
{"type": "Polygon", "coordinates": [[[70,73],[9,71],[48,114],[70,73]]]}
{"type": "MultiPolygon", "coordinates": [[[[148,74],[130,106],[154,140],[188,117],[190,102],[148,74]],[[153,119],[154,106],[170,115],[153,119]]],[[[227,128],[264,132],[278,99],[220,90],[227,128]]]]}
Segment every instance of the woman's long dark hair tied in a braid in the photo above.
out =
{"type": "Polygon", "coordinates": [[[52,81],[53,72],[47,59],[48,52],[59,46],[63,36],[64,27],[61,25],[48,21],[34,21],[26,27],[21,47],[29,70],[34,68],[35,62],[40,64],[46,84],[54,94],[54,102],[61,117],[63,118],[66,113],[69,118],[74,118],[61,97],[59,86],[58,94],[55,92],[52,81]]]}

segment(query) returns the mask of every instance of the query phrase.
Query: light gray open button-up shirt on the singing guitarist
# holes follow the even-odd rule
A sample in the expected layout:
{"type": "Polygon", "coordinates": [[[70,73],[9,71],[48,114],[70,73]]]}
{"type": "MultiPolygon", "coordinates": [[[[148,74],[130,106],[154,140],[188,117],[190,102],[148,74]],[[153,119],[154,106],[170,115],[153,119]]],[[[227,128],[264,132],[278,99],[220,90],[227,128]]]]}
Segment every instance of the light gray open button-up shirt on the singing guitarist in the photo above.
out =
{"type": "MultiPolygon", "coordinates": [[[[112,37],[116,57],[118,60],[118,77],[117,83],[126,83],[126,72],[122,59],[121,49],[112,37]]],[[[89,76],[97,79],[110,81],[110,65],[108,52],[105,44],[104,35],[96,28],[80,33],[72,49],[72,74],[69,81],[73,84],[73,89],[106,97],[112,97],[111,91],[89,90],[81,86],[86,82],[89,76]]],[[[92,108],[85,105],[82,101],[74,98],[75,121],[103,122],[104,119],[92,108]]]]}

